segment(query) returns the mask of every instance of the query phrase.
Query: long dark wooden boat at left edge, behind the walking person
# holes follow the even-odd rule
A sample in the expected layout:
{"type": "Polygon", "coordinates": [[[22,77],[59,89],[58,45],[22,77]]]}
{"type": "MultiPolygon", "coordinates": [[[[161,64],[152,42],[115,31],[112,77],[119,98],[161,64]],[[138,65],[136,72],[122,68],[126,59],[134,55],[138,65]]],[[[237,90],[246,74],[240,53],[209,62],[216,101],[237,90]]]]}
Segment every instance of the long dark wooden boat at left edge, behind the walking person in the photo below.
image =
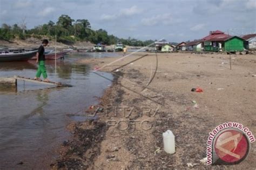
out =
{"type": "Polygon", "coordinates": [[[0,50],[0,62],[27,61],[36,55],[37,50],[26,51],[24,49],[0,50]]]}

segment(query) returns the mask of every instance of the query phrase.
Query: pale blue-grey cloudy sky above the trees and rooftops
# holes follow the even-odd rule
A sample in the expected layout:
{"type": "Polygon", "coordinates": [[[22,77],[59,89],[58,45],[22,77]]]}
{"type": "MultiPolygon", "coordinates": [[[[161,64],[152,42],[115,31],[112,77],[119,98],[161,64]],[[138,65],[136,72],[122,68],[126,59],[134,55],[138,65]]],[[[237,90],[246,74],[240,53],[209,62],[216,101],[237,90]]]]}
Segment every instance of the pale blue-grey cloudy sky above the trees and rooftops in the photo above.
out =
{"type": "Polygon", "coordinates": [[[122,38],[171,42],[204,37],[211,30],[233,35],[256,30],[256,0],[0,0],[0,24],[28,28],[62,14],[88,19],[92,29],[122,38]]]}

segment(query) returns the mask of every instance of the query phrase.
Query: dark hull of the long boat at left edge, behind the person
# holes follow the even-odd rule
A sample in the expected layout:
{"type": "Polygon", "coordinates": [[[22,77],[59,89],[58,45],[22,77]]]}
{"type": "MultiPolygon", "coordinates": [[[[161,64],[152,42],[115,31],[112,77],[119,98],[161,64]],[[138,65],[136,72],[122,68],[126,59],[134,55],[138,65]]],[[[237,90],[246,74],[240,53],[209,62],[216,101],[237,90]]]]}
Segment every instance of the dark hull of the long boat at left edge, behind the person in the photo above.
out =
{"type": "Polygon", "coordinates": [[[0,62],[17,62],[27,61],[36,55],[36,51],[29,51],[23,53],[6,53],[0,55],[0,62]]]}

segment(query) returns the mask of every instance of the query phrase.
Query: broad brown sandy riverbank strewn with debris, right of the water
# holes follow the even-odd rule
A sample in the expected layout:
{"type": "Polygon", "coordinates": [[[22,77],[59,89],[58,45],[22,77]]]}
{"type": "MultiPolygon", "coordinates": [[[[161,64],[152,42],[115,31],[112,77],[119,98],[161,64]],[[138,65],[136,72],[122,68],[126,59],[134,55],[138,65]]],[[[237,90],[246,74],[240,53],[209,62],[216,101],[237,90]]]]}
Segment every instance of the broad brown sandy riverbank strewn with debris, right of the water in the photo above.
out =
{"type": "Polygon", "coordinates": [[[231,57],[232,70],[228,55],[161,53],[158,67],[156,55],[144,52],[111,65],[117,58],[80,60],[95,69],[105,65],[100,70],[114,70],[116,79],[100,99],[104,112],[97,113],[99,118],[72,124],[74,138],[64,143],[54,168],[184,169],[188,163],[196,169],[255,167],[255,143],[239,165],[207,167],[199,161],[206,157],[208,133],[219,124],[238,122],[256,134],[256,58],[231,57]],[[196,87],[204,92],[191,92],[196,87]],[[176,136],[173,155],[163,151],[162,133],[168,129],[176,136]]]}

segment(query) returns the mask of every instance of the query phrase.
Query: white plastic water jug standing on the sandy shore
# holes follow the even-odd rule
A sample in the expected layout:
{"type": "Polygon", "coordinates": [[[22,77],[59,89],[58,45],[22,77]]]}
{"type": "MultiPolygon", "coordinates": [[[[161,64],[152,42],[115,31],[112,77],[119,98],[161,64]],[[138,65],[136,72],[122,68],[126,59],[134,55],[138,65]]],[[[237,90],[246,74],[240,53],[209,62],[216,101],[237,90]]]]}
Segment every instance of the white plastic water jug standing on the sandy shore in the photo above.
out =
{"type": "Polygon", "coordinates": [[[175,137],[172,131],[167,130],[166,132],[164,132],[163,140],[164,140],[164,151],[170,154],[175,153],[175,137]]]}

